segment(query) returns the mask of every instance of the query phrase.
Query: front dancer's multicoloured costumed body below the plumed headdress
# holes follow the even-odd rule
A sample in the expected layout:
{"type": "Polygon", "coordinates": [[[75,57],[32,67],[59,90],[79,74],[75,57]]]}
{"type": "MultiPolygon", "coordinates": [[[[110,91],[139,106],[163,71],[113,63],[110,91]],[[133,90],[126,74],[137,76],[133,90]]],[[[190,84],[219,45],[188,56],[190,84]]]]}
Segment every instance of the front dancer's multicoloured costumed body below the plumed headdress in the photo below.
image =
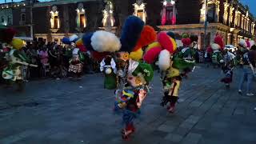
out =
{"type": "Polygon", "coordinates": [[[129,61],[127,85],[116,94],[115,111],[122,111],[122,120],[125,124],[122,138],[129,138],[135,130],[134,119],[139,114],[143,100],[149,92],[148,84],[154,76],[149,64],[129,61]]]}

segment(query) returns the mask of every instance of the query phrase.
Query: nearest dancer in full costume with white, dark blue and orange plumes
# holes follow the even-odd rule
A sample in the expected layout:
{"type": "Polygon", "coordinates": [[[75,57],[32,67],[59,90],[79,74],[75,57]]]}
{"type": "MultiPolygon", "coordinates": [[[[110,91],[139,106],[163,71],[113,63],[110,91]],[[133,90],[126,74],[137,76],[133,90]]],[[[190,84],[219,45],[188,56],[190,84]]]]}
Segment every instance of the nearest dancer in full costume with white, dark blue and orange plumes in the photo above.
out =
{"type": "Polygon", "coordinates": [[[105,72],[105,87],[117,88],[114,110],[123,114],[125,128],[122,130],[122,138],[124,139],[134,132],[135,115],[138,114],[142,101],[146,98],[148,84],[154,75],[149,64],[138,62],[142,59],[142,47],[155,40],[154,28],[144,26],[144,22],[135,16],[126,19],[120,39],[102,30],[85,34],[82,38],[84,46],[92,52],[94,58],[96,55],[103,57],[101,70],[105,72]]]}

